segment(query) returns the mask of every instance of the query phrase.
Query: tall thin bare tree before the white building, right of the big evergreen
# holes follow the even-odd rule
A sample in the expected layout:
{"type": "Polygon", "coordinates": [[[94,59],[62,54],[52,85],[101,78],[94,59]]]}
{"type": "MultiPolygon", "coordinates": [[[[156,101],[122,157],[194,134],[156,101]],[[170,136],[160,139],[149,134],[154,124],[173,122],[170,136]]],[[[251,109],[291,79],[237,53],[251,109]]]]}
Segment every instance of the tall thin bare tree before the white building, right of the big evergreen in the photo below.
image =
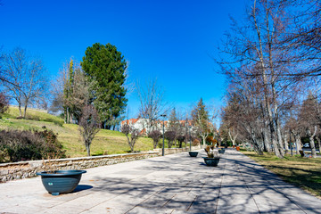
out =
{"type": "Polygon", "coordinates": [[[151,80],[146,86],[136,84],[136,91],[140,101],[138,117],[145,119],[144,128],[148,135],[157,127],[161,114],[167,114],[168,104],[164,101],[164,92],[157,85],[156,79],[151,80]]]}

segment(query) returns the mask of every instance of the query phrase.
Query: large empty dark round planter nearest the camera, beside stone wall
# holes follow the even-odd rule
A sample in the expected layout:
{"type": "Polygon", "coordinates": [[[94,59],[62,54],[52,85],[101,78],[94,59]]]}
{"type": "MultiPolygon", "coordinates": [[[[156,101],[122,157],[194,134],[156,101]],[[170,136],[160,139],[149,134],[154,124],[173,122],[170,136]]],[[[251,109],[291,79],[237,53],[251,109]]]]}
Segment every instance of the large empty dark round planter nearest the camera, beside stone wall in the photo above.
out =
{"type": "Polygon", "coordinates": [[[81,179],[81,175],[86,173],[85,170],[57,170],[54,172],[43,171],[37,173],[41,176],[41,181],[46,191],[52,195],[72,192],[81,179]]]}

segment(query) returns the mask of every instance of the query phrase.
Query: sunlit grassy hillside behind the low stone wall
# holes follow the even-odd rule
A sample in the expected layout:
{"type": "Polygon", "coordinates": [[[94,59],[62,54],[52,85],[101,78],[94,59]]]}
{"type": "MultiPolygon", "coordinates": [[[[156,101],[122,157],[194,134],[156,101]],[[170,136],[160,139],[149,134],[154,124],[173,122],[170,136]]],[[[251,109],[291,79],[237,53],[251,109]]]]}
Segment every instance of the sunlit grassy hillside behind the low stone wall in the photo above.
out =
{"type": "MultiPolygon", "coordinates": [[[[27,111],[27,119],[16,119],[18,108],[10,107],[0,119],[0,129],[42,129],[46,127],[58,134],[58,140],[70,157],[86,156],[86,148],[78,132],[78,125],[63,124],[63,119],[41,111],[27,111]]],[[[135,145],[136,151],[152,150],[152,139],[140,137],[135,145]]],[[[130,152],[127,138],[124,134],[102,129],[91,144],[92,155],[130,152]]]]}

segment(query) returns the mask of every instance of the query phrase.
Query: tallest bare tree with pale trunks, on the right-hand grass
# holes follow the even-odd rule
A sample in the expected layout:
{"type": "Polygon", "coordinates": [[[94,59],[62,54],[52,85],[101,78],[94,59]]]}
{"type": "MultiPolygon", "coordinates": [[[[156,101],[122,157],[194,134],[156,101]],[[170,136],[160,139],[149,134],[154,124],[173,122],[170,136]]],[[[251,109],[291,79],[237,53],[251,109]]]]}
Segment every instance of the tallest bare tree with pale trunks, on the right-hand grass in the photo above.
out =
{"type": "Polygon", "coordinates": [[[272,143],[279,158],[284,157],[281,116],[286,100],[283,96],[293,86],[286,77],[295,70],[294,52],[280,43],[291,32],[286,17],[290,6],[291,1],[254,0],[248,8],[246,22],[240,26],[234,21],[232,33],[227,34],[221,49],[228,56],[218,61],[229,78],[256,82],[260,94],[256,101],[263,116],[258,125],[263,128],[263,141],[272,143]]]}

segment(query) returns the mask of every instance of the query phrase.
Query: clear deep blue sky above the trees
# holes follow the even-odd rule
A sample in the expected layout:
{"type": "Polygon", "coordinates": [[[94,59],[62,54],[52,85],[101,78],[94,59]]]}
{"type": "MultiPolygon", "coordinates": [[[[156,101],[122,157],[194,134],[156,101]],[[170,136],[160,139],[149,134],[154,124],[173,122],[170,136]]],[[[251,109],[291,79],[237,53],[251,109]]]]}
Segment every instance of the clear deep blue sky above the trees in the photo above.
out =
{"type": "MultiPolygon", "coordinates": [[[[245,2],[2,0],[0,45],[37,54],[54,78],[87,46],[111,43],[129,62],[129,82],[158,78],[178,108],[201,97],[220,103],[225,80],[210,56],[230,28],[228,15],[242,17],[245,2]]],[[[128,95],[131,113],[137,104],[136,94],[128,95]]]]}

